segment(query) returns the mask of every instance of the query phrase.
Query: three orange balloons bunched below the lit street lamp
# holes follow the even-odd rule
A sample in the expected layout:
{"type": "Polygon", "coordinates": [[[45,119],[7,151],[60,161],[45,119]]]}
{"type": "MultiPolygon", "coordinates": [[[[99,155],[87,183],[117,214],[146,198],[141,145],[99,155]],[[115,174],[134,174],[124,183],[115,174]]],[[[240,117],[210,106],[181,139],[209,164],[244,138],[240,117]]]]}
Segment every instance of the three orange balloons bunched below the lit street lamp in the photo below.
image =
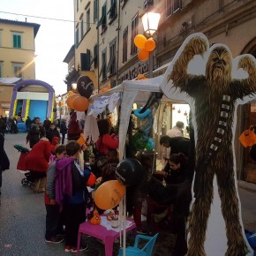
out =
{"type": "Polygon", "coordinates": [[[143,34],[137,34],[134,37],[134,44],[139,48],[139,60],[145,61],[149,57],[149,52],[155,49],[155,41],[153,38],[147,39],[143,34]]]}

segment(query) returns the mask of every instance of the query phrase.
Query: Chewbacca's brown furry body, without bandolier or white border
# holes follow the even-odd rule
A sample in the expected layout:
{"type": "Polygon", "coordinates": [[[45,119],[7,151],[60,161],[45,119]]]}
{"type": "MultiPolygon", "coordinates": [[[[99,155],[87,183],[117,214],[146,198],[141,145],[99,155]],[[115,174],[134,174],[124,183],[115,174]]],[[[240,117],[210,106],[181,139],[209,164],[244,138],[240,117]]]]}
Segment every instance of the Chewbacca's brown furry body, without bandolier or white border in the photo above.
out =
{"type": "Polygon", "coordinates": [[[237,98],[255,93],[256,71],[252,59],[241,58],[238,67],[249,73],[244,80],[231,79],[232,57],[225,47],[219,46],[211,52],[206,68],[206,76],[187,74],[187,66],[194,55],[203,55],[207,51],[207,42],[194,37],[184,46],[184,51],[177,58],[169,79],[181,92],[194,99],[195,120],[198,139],[196,142],[196,166],[204,162],[207,150],[216,137],[222,96],[230,95],[230,110],[222,143],[215,156],[198,169],[195,177],[195,201],[189,222],[190,239],[188,242],[189,256],[206,255],[204,243],[206,239],[207,220],[214,197],[213,179],[216,176],[218,192],[222,201],[222,215],[226,224],[228,250],[226,256],[243,256],[248,252],[242,227],[239,222],[239,207],[234,177],[234,159],[232,150],[232,125],[237,98]]]}

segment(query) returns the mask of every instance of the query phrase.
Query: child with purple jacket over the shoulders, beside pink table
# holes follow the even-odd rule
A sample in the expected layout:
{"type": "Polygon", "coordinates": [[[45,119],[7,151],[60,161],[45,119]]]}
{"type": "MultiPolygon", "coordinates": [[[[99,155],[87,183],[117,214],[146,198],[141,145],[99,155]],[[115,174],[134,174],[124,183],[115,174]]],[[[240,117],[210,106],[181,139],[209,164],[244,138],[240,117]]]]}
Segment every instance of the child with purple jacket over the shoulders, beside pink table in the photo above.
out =
{"type": "MultiPolygon", "coordinates": [[[[77,252],[79,224],[86,221],[88,170],[81,169],[77,159],[80,146],[76,140],[66,145],[67,157],[56,161],[56,202],[64,207],[65,252],[77,252]]],[[[80,247],[84,251],[86,247],[80,247]]]]}

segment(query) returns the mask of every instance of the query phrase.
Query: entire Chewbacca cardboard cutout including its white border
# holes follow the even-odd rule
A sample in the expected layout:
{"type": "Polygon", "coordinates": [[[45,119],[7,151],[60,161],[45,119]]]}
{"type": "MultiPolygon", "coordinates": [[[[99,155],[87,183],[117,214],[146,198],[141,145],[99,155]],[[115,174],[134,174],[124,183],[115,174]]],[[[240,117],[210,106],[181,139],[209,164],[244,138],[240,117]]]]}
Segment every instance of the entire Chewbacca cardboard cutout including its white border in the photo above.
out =
{"type": "Polygon", "coordinates": [[[162,82],[166,96],[190,104],[195,129],[187,255],[252,255],[237,195],[233,140],[237,105],[256,97],[255,59],[250,55],[233,59],[227,46],[215,44],[209,49],[208,45],[204,34],[189,36],[162,82]]]}

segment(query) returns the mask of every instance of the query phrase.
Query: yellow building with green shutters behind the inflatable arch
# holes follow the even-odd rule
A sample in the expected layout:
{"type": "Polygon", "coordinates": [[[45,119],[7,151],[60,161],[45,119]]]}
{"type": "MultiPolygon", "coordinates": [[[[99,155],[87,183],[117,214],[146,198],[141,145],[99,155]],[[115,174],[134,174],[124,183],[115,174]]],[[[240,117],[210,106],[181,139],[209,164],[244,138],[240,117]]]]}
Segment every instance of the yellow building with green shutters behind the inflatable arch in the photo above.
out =
{"type": "Polygon", "coordinates": [[[8,116],[12,88],[21,79],[35,79],[34,38],[40,25],[0,19],[0,115],[8,116]]]}

